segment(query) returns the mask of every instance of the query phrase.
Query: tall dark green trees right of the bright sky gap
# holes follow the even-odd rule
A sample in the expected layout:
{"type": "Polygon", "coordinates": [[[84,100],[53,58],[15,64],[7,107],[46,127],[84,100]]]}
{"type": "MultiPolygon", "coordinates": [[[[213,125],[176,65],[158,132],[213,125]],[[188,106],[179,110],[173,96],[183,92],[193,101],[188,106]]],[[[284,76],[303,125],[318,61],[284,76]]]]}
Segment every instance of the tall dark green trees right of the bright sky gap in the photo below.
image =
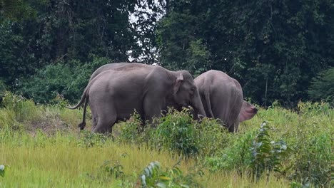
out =
{"type": "Polygon", "coordinates": [[[224,71],[255,102],[294,106],[308,98],[311,78],[333,66],[333,10],[331,0],[168,1],[156,28],[159,59],[224,71]]]}

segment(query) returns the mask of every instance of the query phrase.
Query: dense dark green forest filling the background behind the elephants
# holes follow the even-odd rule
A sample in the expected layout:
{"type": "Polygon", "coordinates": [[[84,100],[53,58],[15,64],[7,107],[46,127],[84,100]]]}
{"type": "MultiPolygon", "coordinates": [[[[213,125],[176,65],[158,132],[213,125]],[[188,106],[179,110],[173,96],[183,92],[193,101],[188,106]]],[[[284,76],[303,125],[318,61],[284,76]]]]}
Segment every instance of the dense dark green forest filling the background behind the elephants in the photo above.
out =
{"type": "Polygon", "coordinates": [[[0,0],[0,92],[75,103],[112,62],[239,80],[258,105],[334,101],[334,1],[0,0]]]}

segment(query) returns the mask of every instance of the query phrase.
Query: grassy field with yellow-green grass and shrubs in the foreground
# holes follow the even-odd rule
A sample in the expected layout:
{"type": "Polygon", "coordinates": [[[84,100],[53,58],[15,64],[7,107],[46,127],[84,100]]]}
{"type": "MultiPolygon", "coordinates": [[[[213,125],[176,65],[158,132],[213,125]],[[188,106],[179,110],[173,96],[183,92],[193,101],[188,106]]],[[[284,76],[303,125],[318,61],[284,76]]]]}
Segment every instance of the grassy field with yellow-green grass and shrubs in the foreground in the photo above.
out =
{"type": "Polygon", "coordinates": [[[6,93],[2,104],[0,187],[333,187],[325,103],[260,108],[236,134],[186,111],[138,133],[133,117],[113,137],[79,132],[82,110],[61,99],[34,105],[6,93]]]}

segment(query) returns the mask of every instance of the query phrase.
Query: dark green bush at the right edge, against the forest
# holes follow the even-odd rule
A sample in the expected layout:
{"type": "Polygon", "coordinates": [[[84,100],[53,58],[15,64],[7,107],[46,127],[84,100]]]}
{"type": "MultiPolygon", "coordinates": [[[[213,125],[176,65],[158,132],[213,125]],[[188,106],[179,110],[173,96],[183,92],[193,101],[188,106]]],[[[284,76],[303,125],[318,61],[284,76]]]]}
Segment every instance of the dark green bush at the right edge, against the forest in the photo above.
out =
{"type": "Polygon", "coordinates": [[[334,106],[334,68],[328,68],[312,78],[308,95],[312,100],[325,100],[334,106]]]}

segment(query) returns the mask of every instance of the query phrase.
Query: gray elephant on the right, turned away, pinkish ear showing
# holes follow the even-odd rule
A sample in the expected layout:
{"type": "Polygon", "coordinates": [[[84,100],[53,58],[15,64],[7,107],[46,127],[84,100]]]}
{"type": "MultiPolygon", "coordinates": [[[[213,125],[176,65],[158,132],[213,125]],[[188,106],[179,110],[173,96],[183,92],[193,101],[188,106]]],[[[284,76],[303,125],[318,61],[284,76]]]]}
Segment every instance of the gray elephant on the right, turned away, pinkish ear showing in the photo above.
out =
{"type": "Polygon", "coordinates": [[[236,79],[221,71],[207,71],[195,78],[208,117],[218,118],[229,132],[237,132],[239,122],[251,119],[257,109],[243,100],[243,90],[236,79]]]}

